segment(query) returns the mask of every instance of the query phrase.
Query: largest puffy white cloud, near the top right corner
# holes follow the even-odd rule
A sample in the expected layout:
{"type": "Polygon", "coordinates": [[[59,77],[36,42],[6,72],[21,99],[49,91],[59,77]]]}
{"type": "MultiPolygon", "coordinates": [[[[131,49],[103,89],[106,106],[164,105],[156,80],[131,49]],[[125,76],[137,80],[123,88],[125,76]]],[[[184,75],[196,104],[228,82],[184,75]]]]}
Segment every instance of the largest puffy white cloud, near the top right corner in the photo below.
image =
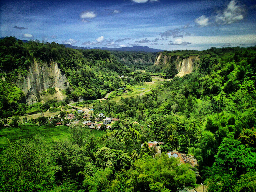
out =
{"type": "Polygon", "coordinates": [[[219,11],[215,16],[216,24],[231,24],[244,19],[244,7],[238,5],[236,0],[229,2],[226,9],[219,11]]]}

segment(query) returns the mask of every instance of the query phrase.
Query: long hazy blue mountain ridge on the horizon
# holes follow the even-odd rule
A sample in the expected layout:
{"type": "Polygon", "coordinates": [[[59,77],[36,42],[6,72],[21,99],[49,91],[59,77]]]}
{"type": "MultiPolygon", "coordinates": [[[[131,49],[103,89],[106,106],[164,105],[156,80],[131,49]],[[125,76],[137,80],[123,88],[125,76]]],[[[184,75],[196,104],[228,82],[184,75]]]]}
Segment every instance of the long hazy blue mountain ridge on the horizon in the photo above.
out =
{"type": "Polygon", "coordinates": [[[162,52],[164,50],[160,49],[153,49],[149,48],[148,46],[133,46],[133,47],[121,47],[121,48],[108,48],[108,47],[77,47],[77,46],[72,46],[70,44],[62,44],[65,47],[73,48],[73,49],[100,49],[100,50],[108,50],[108,51],[144,51],[144,52],[162,52]]]}

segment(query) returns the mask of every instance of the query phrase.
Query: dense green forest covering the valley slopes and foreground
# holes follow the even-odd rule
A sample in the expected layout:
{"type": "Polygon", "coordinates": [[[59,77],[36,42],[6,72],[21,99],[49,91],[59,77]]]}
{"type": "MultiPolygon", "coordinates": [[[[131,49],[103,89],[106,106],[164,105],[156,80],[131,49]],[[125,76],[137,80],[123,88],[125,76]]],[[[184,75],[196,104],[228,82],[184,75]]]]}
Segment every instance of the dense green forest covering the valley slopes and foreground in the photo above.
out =
{"type": "MultiPolygon", "coordinates": [[[[102,113],[120,119],[101,136],[76,124],[60,141],[47,142],[37,134],[9,142],[0,153],[0,191],[178,192],[202,183],[208,192],[254,192],[256,47],[163,54],[197,54],[200,62],[191,74],[160,82],[146,94],[94,102],[92,121],[102,113]],[[149,141],[163,142],[162,153],[149,148],[149,141]],[[198,166],[166,155],[174,150],[194,156],[198,166]]],[[[34,59],[54,60],[65,72],[71,85],[62,101],[67,104],[80,96],[93,100],[116,88],[150,82],[150,74],[135,70],[138,64],[120,62],[137,57],[132,52],[23,43],[12,37],[0,40],[2,124],[30,107],[15,80],[18,74],[26,76],[34,59]]],[[[143,68],[154,71],[153,66],[143,68]]],[[[54,105],[47,103],[46,108],[54,105]]]]}

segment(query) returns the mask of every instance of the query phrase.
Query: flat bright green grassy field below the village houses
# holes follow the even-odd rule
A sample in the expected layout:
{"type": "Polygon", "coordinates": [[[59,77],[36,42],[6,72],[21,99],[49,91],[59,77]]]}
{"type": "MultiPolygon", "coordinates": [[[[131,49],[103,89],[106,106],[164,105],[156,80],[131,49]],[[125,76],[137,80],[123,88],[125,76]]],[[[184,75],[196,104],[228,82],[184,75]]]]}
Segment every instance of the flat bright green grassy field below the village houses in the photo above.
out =
{"type": "MultiPolygon", "coordinates": [[[[87,129],[87,128],[86,128],[87,129]]],[[[37,134],[44,137],[46,142],[55,142],[70,138],[68,126],[21,126],[2,128],[0,130],[0,148],[8,146],[9,142],[15,142],[18,139],[29,139],[37,134]]],[[[99,137],[105,134],[104,131],[92,130],[90,134],[99,137]]]]}

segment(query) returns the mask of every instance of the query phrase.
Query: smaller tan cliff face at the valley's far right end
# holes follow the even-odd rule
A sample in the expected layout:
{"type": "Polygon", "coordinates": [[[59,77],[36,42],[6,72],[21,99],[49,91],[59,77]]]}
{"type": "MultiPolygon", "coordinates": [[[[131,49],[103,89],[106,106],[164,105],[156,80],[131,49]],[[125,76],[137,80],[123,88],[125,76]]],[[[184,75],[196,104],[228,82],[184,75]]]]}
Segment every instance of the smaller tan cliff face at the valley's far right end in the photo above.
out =
{"type": "Polygon", "coordinates": [[[194,68],[196,68],[199,62],[199,56],[189,56],[188,58],[180,59],[180,56],[167,56],[163,53],[159,53],[156,56],[154,65],[167,68],[170,65],[174,65],[177,69],[176,76],[182,77],[186,74],[190,74],[194,68]]]}

